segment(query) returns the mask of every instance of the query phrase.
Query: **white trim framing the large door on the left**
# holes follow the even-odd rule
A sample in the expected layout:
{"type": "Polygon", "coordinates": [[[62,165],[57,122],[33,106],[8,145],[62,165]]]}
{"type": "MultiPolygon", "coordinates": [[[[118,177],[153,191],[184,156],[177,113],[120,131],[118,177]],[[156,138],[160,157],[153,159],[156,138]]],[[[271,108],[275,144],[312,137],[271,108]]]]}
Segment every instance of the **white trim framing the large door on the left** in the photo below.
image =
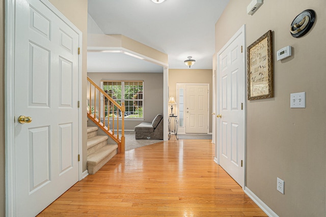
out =
{"type": "MultiPolygon", "coordinates": [[[[77,34],[82,50],[83,33],[48,0],[39,0],[77,34]]],[[[16,165],[15,165],[15,5],[16,0],[5,0],[5,182],[6,216],[16,216],[16,165]]],[[[82,53],[78,55],[78,101],[82,101],[82,53]]],[[[76,102],[77,103],[77,102],[76,102]]],[[[78,109],[78,179],[83,179],[82,108],[78,109]]],[[[44,207],[45,208],[45,207],[44,207]]]]}

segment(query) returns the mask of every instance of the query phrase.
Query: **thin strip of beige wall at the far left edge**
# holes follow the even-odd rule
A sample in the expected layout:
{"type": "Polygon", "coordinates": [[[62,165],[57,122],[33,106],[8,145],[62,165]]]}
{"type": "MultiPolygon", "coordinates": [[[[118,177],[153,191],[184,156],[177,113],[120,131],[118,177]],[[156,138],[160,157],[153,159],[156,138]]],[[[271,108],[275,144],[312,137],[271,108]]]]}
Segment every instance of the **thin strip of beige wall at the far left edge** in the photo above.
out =
{"type": "MultiPolygon", "coordinates": [[[[0,0],[0,119],[5,119],[5,2],[0,0]]],[[[0,216],[5,216],[5,121],[0,124],[0,216]]]]}

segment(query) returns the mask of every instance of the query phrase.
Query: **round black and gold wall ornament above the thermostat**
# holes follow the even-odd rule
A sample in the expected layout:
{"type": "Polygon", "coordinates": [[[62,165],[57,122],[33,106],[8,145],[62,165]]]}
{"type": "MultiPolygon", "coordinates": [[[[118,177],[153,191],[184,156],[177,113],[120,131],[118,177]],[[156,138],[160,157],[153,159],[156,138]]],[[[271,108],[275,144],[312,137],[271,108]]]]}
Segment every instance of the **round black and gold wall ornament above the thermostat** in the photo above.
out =
{"type": "Polygon", "coordinates": [[[297,15],[291,23],[290,33],[294,38],[304,36],[309,32],[315,22],[315,12],[311,9],[305,10],[297,15]]]}

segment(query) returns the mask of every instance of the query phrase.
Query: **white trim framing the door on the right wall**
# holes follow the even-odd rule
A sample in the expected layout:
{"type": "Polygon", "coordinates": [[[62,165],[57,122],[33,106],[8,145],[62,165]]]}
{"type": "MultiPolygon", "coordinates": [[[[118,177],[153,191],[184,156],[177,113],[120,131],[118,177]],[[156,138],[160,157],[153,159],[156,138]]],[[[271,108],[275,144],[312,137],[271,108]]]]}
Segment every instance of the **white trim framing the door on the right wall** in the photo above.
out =
{"type": "MultiPolygon", "coordinates": [[[[245,84],[243,85],[243,110],[244,110],[244,114],[243,114],[243,156],[241,156],[243,158],[243,187],[242,189],[244,190],[244,188],[246,187],[246,150],[247,150],[247,49],[246,49],[246,24],[243,24],[239,30],[237,30],[237,32],[231,37],[231,39],[229,39],[229,41],[219,50],[219,52],[216,55],[216,69],[215,69],[215,97],[220,96],[219,95],[219,91],[220,91],[220,84],[219,84],[219,75],[220,75],[220,61],[219,61],[219,56],[221,55],[221,53],[235,40],[235,38],[237,38],[240,34],[243,34],[243,38],[242,38],[242,44],[243,44],[243,67],[244,67],[244,82],[245,84]]],[[[216,114],[220,113],[220,100],[216,100],[215,101],[215,111],[216,114]]],[[[216,116],[215,116],[216,118],[216,116]]],[[[216,164],[220,165],[220,155],[219,155],[219,150],[220,150],[220,144],[219,144],[219,130],[218,130],[218,123],[219,123],[219,119],[217,121],[215,121],[215,157],[214,157],[214,162],[216,164]]]]}

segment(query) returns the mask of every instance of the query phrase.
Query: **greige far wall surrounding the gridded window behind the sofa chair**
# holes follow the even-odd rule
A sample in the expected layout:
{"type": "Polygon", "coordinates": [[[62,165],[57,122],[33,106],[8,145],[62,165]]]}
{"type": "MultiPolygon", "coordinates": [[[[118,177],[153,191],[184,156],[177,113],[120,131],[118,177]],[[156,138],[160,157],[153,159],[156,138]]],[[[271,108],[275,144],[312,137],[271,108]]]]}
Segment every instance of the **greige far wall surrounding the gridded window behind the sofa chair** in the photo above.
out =
{"type": "Polygon", "coordinates": [[[163,73],[88,73],[100,86],[101,80],[143,80],[144,120],[125,119],[125,130],[133,130],[141,122],[152,122],[157,114],[163,114],[163,73]]]}

